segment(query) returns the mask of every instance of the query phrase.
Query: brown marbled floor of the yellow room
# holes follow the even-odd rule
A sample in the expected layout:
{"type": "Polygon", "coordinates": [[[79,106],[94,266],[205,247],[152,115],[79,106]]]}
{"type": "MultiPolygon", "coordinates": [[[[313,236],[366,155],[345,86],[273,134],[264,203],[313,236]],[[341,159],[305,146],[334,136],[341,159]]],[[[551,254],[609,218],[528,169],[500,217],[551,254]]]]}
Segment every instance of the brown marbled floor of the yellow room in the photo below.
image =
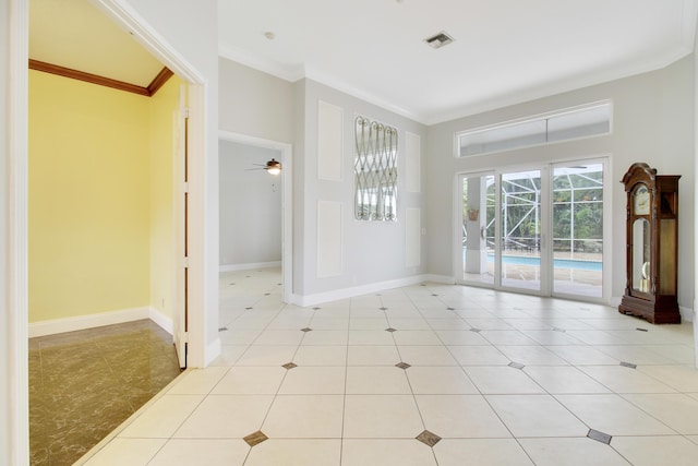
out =
{"type": "Polygon", "coordinates": [[[72,465],[180,373],[149,320],[29,339],[32,465],[72,465]]]}

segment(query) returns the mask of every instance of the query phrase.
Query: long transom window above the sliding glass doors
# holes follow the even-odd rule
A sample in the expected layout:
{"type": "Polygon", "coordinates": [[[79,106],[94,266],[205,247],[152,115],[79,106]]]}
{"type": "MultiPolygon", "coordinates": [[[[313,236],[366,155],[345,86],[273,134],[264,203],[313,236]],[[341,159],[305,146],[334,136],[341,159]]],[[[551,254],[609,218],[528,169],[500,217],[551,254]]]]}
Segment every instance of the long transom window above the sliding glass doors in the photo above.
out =
{"type": "Polygon", "coordinates": [[[467,157],[610,132],[611,101],[603,101],[458,133],[458,155],[467,157]]]}

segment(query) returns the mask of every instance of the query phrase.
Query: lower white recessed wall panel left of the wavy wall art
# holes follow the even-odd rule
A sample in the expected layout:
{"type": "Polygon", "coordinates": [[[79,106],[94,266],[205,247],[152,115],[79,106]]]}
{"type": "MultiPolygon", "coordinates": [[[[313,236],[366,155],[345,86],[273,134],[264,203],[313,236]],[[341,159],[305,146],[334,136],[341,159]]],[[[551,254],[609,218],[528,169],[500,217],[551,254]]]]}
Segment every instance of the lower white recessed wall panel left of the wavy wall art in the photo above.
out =
{"type": "Polygon", "coordinates": [[[341,275],[341,203],[317,201],[317,278],[341,275]]]}

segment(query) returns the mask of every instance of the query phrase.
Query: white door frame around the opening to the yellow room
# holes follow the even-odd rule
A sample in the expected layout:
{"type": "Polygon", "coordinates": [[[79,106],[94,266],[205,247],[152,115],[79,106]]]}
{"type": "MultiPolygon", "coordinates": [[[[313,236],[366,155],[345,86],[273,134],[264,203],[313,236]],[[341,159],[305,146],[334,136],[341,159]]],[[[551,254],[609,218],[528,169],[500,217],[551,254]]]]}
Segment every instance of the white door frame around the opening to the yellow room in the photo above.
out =
{"type": "MultiPolygon", "coordinates": [[[[192,181],[190,192],[198,202],[192,203],[192,222],[201,225],[192,231],[190,250],[192,261],[190,300],[198,312],[190,314],[189,348],[192,366],[204,367],[206,357],[204,312],[204,231],[205,212],[205,95],[204,76],[123,0],[94,0],[94,4],[117,24],[130,31],[133,37],[189,83],[190,136],[192,181]]],[[[9,350],[10,420],[9,444],[11,464],[25,464],[29,455],[28,439],[28,0],[9,0],[10,11],[10,109],[9,121],[9,350]]]]}

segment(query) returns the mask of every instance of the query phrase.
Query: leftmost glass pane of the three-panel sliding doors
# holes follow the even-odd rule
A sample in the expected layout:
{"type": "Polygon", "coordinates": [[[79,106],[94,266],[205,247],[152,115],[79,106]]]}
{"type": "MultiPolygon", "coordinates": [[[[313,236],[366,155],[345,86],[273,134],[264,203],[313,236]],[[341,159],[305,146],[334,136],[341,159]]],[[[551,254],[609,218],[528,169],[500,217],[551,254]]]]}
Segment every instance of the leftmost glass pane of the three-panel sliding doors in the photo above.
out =
{"type": "Polygon", "coordinates": [[[494,175],[462,179],[462,278],[494,285],[494,175]]]}

